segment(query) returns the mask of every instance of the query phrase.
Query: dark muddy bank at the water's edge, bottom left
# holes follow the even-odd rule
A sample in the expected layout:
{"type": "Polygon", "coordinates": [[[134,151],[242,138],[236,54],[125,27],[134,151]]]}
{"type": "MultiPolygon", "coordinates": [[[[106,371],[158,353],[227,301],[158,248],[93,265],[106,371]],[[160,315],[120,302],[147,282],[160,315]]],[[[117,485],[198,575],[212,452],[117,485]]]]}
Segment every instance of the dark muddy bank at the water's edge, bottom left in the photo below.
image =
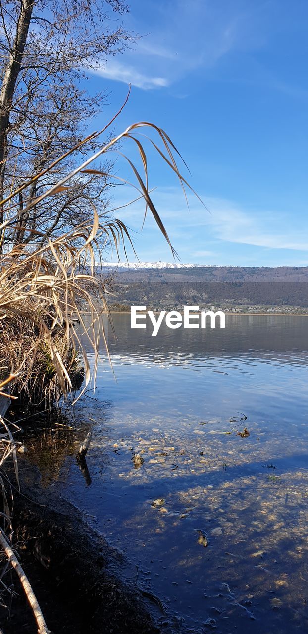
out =
{"type": "MultiPolygon", "coordinates": [[[[39,487],[20,460],[23,495],[15,496],[13,529],[25,573],[55,634],[158,634],[141,592],[117,576],[123,556],[92,531],[76,508],[39,487]]],[[[11,619],[0,607],[4,634],[37,634],[18,579],[11,619]]]]}

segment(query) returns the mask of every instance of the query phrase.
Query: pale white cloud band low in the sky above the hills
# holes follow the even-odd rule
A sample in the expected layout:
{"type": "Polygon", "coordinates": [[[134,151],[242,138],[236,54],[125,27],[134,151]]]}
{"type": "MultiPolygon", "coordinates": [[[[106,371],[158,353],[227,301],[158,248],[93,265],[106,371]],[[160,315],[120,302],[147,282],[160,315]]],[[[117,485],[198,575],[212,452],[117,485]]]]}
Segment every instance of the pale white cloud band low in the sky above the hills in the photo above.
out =
{"type": "MultiPolygon", "coordinates": [[[[115,191],[114,203],[125,199],[125,202],[136,195],[131,194],[129,188],[122,188],[120,198],[115,191]]],[[[198,249],[196,257],[212,255],[206,246],[211,242],[233,243],[266,247],[267,249],[290,249],[307,251],[308,221],[298,226],[294,224],[293,209],[290,214],[279,210],[244,209],[241,205],[231,200],[219,197],[201,196],[207,205],[207,210],[202,204],[188,195],[189,211],[187,209],[181,188],[165,187],[157,188],[152,193],[153,201],[158,213],[164,222],[167,231],[176,240],[183,239],[188,233],[192,243],[198,249]],[[283,230],[281,228],[283,227],[283,230]],[[205,242],[203,250],[202,242],[205,242]]],[[[121,203],[120,203],[121,204],[121,203]]],[[[123,203],[122,203],[123,204],[123,203]]],[[[116,204],[114,205],[116,206],[116,204]]],[[[134,230],[140,231],[143,219],[144,203],[136,202],[123,210],[117,211],[117,216],[123,218],[134,230]]],[[[146,224],[153,223],[148,212],[146,224]]]]}

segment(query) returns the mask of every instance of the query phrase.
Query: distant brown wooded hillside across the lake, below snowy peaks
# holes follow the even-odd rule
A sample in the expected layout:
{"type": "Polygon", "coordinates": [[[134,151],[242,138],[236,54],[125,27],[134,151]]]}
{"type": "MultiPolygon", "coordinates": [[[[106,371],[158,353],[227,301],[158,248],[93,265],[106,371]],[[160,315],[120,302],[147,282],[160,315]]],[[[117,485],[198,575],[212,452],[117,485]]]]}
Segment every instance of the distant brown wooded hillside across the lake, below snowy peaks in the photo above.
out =
{"type": "MultiPolygon", "coordinates": [[[[103,276],[107,271],[103,271],[103,276]]],[[[308,267],[118,269],[108,271],[108,288],[118,305],[146,304],[172,309],[184,304],[215,305],[241,311],[250,307],[308,307],[308,267]]],[[[286,311],[288,312],[288,311],[286,311]]]]}

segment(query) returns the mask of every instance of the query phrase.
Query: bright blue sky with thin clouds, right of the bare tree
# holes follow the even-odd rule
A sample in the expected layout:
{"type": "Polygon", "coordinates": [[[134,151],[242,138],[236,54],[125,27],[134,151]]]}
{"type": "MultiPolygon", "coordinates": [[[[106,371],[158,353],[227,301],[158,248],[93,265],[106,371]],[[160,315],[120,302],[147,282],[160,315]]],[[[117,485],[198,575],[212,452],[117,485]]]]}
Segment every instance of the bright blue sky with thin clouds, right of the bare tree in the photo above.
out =
{"type": "MultiPolygon", "coordinates": [[[[108,90],[95,127],[129,103],[116,131],[138,120],[163,127],[184,176],[210,210],[149,149],[153,199],[181,261],[233,266],[308,265],[308,4],[306,0],[131,0],[136,46],[110,58],[88,88],[108,90]],[[126,85],[125,85],[126,84],[126,85]]],[[[129,143],[122,151],[134,157],[129,143]]],[[[131,179],[117,162],[117,173],[131,179]]],[[[120,187],[113,205],[136,195],[120,187]]],[[[116,212],[141,261],[172,261],[139,204],[116,212]]],[[[132,254],[130,259],[135,259],[132,254]]]]}

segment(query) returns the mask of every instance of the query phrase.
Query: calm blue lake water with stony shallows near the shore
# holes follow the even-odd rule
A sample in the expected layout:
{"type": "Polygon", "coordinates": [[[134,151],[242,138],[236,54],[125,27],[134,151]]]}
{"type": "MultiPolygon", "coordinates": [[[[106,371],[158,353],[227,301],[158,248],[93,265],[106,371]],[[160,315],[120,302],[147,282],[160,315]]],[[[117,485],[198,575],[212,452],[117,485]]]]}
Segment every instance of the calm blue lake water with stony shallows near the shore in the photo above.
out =
{"type": "Polygon", "coordinates": [[[127,554],[124,576],[174,631],[306,631],[308,318],[156,338],[113,320],[117,380],[102,351],[96,400],[78,409],[95,432],[91,486],[70,456],[54,486],[127,554]]]}

